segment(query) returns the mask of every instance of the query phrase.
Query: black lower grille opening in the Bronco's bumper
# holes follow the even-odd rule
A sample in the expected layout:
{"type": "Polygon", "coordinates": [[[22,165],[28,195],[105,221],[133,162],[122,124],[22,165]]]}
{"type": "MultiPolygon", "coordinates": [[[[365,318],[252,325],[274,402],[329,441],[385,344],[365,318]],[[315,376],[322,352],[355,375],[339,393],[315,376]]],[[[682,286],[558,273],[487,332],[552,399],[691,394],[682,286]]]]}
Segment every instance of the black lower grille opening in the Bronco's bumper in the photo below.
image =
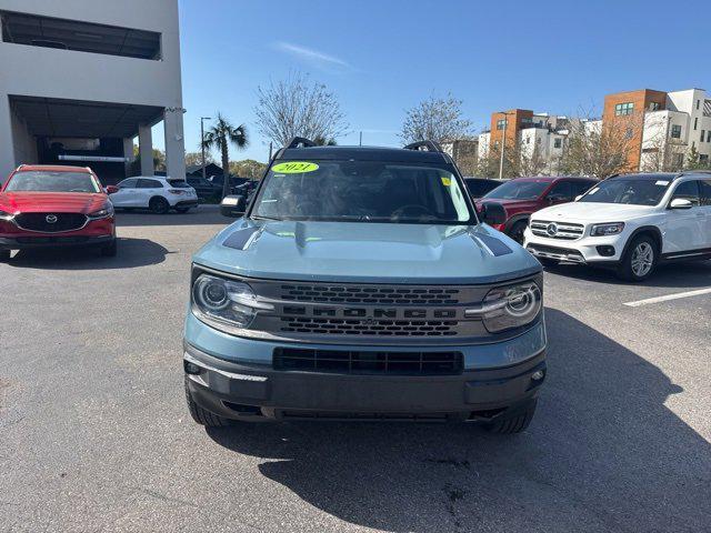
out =
{"type": "Polygon", "coordinates": [[[455,375],[464,364],[461,352],[363,352],[278,348],[274,370],[348,374],[455,375]]]}

